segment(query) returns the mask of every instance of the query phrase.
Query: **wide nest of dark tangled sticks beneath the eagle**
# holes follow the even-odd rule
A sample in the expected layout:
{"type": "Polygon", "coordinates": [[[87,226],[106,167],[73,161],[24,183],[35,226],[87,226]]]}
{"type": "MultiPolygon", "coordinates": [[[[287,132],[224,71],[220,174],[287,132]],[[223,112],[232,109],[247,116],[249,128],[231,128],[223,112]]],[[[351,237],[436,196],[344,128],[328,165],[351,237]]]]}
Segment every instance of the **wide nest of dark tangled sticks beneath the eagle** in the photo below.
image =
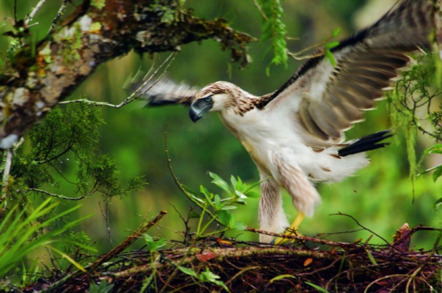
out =
{"type": "Polygon", "coordinates": [[[210,237],[153,252],[124,252],[163,215],[141,225],[85,272],[40,278],[23,292],[85,292],[91,283],[103,282],[105,292],[442,292],[440,235],[431,251],[410,250],[413,234],[437,228],[404,224],[383,245],[296,235],[286,235],[283,245],[210,237]],[[210,279],[209,271],[216,277],[210,279]]]}

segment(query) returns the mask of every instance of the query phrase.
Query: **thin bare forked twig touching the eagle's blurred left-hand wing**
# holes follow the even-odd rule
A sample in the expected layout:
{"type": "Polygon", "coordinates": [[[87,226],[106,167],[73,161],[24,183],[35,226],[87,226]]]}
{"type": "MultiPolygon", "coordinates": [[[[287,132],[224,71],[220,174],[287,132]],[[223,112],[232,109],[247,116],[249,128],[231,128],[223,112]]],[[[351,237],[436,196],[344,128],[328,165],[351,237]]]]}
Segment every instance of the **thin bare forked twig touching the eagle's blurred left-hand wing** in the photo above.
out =
{"type": "Polygon", "coordinates": [[[166,58],[166,60],[163,61],[163,63],[161,63],[160,66],[158,66],[158,68],[152,73],[152,75],[149,76],[149,78],[147,78],[142,85],[140,85],[132,94],[130,94],[130,96],[128,96],[127,98],[125,98],[121,103],[119,104],[111,104],[111,103],[107,103],[107,102],[97,102],[97,101],[91,101],[88,100],[86,98],[81,98],[81,99],[76,99],[76,100],[71,100],[71,101],[62,101],[59,102],[58,104],[72,104],[72,103],[84,103],[84,104],[89,104],[89,105],[93,105],[93,106],[99,106],[99,107],[111,107],[111,108],[116,108],[119,109],[135,100],[137,100],[138,98],[142,97],[144,94],[146,94],[154,85],[156,85],[161,78],[163,78],[164,74],[166,73],[167,69],[169,68],[170,64],[172,64],[173,60],[175,59],[177,52],[172,52],[168,58],[166,58]],[[169,62],[170,61],[170,62],[169,62]],[[146,89],[144,89],[142,91],[142,89],[144,87],[146,87],[146,85],[152,80],[152,78],[154,76],[157,75],[157,73],[164,67],[163,72],[159,75],[159,77],[151,84],[149,85],[146,89]]]}

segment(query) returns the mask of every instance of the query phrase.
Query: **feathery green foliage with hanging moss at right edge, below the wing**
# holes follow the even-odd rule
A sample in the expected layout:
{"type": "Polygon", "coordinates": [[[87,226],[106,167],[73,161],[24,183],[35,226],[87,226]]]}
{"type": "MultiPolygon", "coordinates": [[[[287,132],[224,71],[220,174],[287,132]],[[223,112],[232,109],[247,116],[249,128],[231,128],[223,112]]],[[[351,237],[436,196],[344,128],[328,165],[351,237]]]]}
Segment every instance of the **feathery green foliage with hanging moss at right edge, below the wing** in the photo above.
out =
{"type": "MultiPolygon", "coordinates": [[[[436,140],[442,137],[442,107],[433,105],[442,97],[442,89],[438,88],[440,81],[436,78],[441,61],[429,53],[417,55],[415,59],[417,62],[409,70],[401,72],[401,78],[394,89],[386,94],[393,127],[402,129],[405,134],[409,173],[413,183],[425,157],[418,162],[415,150],[417,133],[421,132],[436,140]]],[[[431,147],[425,154],[437,153],[438,149],[437,146],[431,147]]],[[[438,174],[436,171],[435,176],[439,177],[438,174]]]]}

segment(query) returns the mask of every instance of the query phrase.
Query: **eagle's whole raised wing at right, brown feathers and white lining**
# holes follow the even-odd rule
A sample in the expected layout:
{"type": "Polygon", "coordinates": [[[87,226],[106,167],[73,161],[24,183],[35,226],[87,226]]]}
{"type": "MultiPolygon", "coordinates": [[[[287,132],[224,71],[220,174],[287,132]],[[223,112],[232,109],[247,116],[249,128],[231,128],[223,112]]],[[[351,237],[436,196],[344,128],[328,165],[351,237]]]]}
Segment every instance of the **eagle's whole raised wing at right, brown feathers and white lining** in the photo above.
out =
{"type": "Polygon", "coordinates": [[[323,56],[310,59],[280,89],[263,97],[258,108],[289,107],[311,146],[342,142],[343,131],[374,108],[382,89],[410,60],[405,54],[430,46],[435,1],[402,1],[371,27],[341,41],[332,50],[335,67],[323,56]]]}

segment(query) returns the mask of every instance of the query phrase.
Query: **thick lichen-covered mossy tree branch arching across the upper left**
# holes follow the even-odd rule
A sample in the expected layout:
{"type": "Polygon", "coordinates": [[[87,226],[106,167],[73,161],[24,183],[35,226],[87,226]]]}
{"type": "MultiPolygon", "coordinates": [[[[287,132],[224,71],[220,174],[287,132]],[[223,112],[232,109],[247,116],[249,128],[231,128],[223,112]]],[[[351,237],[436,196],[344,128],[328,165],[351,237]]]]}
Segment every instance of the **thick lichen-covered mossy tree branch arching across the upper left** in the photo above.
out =
{"type": "Polygon", "coordinates": [[[17,37],[21,48],[0,75],[0,138],[9,137],[3,148],[110,59],[131,50],[176,51],[189,42],[215,39],[244,66],[245,45],[252,40],[225,20],[194,17],[178,0],[106,0],[101,9],[86,0],[38,44],[27,42],[26,32],[17,37]]]}

